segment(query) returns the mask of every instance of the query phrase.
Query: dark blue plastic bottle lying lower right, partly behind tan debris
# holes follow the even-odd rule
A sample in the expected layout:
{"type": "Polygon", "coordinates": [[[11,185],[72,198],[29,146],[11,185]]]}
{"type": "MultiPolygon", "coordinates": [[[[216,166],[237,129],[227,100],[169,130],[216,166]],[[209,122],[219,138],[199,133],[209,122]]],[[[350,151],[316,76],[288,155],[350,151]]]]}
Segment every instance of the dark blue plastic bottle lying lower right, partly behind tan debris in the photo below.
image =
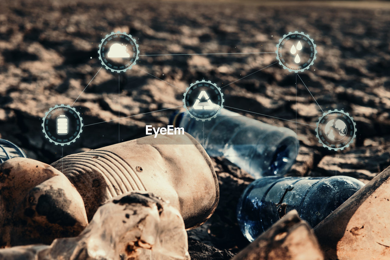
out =
{"type": "Polygon", "coordinates": [[[294,209],[314,227],[363,186],[348,176],[264,177],[248,185],[241,195],[238,224],[251,242],[294,209]]]}

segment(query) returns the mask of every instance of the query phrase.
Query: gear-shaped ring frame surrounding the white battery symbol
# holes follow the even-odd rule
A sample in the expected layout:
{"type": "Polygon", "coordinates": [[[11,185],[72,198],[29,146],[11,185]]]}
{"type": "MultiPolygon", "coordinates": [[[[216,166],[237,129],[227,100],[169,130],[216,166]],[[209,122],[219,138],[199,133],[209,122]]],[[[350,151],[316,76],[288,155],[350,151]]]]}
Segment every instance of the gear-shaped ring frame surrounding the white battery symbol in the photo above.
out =
{"type": "Polygon", "coordinates": [[[55,105],[54,107],[51,107],[50,109],[49,109],[49,111],[48,112],[46,112],[45,113],[45,116],[43,117],[43,122],[42,122],[42,132],[44,133],[44,135],[45,135],[45,137],[47,138],[47,139],[49,139],[49,141],[50,142],[53,142],[54,144],[56,144],[56,145],[61,145],[61,146],[64,146],[64,145],[69,145],[69,144],[71,144],[72,142],[75,142],[76,141],[76,139],[78,139],[79,137],[80,137],[80,134],[83,132],[83,119],[82,119],[82,117],[80,116],[80,112],[77,112],[76,111],[76,109],[74,109],[73,107],[71,107],[70,105],[64,105],[64,104],[61,104],[61,105],[55,105]],[[53,140],[52,138],[55,138],[55,137],[53,137],[53,135],[52,134],[50,134],[50,132],[48,131],[48,126],[47,126],[47,124],[48,124],[48,121],[46,120],[46,119],[48,119],[48,116],[50,117],[50,114],[53,112],[53,111],[55,111],[55,110],[58,110],[58,109],[63,109],[64,111],[69,111],[69,112],[71,112],[72,114],[74,113],[75,115],[77,115],[77,117],[78,117],[78,131],[77,132],[75,132],[74,134],[73,134],[73,138],[72,139],[70,139],[69,140],[69,138],[67,138],[67,139],[57,139],[56,138],[56,140],[57,141],[59,141],[59,142],[57,142],[57,141],[55,141],[55,140],[53,140]]]}

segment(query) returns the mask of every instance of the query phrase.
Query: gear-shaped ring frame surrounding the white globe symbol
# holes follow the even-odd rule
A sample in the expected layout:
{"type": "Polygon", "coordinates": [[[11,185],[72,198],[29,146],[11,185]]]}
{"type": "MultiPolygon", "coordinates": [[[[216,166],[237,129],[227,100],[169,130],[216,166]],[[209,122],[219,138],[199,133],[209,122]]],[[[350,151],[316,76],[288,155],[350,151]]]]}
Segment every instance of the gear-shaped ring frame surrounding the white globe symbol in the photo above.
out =
{"type": "Polygon", "coordinates": [[[349,115],[349,113],[344,112],[344,110],[328,110],[328,112],[324,112],[322,116],[319,117],[318,122],[316,123],[316,137],[318,138],[318,142],[322,144],[323,147],[328,148],[329,150],[344,150],[344,148],[349,147],[349,144],[353,143],[353,140],[356,137],[356,123],[353,121],[353,117],[349,115]],[[350,137],[347,142],[342,142],[341,145],[337,144],[330,144],[329,142],[326,142],[325,138],[323,137],[323,133],[320,129],[320,124],[323,124],[324,121],[328,118],[330,114],[339,114],[340,117],[346,119],[347,123],[349,123],[350,129],[353,128],[353,134],[350,132],[350,137]]]}

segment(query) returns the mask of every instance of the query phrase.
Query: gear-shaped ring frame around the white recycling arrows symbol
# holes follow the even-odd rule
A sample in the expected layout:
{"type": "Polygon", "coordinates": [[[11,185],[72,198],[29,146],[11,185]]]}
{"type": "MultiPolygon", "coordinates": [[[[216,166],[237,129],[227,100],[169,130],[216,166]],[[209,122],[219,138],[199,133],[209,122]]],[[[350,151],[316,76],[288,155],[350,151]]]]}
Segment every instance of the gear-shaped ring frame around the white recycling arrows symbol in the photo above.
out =
{"type": "Polygon", "coordinates": [[[194,118],[196,119],[197,121],[201,120],[201,121],[210,121],[211,118],[216,118],[216,116],[221,112],[221,109],[223,108],[223,102],[225,101],[223,99],[223,93],[221,92],[221,88],[220,87],[217,87],[217,85],[215,83],[212,83],[210,80],[206,81],[206,80],[197,80],[195,83],[192,83],[190,85],[190,87],[187,87],[186,89],[186,92],[183,94],[184,98],[183,98],[183,107],[186,109],[186,113],[188,113],[190,115],[191,118],[194,118]],[[207,115],[197,115],[196,113],[193,113],[192,111],[188,110],[188,107],[190,106],[190,104],[188,104],[186,98],[189,94],[191,94],[191,91],[192,89],[198,87],[198,86],[206,86],[206,87],[209,87],[210,89],[212,89],[213,91],[215,91],[216,94],[218,94],[218,105],[219,106],[219,109],[218,111],[213,111],[213,113],[211,114],[207,114],[207,115]]]}

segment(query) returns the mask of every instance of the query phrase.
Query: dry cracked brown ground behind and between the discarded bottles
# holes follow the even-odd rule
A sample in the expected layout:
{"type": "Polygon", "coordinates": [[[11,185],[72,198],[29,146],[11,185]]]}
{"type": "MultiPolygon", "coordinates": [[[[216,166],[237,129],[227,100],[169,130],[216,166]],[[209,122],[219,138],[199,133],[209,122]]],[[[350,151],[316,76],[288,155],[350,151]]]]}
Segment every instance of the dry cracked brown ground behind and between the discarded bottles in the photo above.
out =
{"type": "MultiPolygon", "coordinates": [[[[182,105],[182,89],[196,80],[228,85],[276,62],[272,53],[140,56],[139,69],[119,76],[99,71],[97,58],[101,38],[113,30],[132,34],[144,55],[274,52],[280,37],[298,30],[318,47],[314,66],[300,73],[303,82],[324,111],[343,109],[353,116],[355,142],[336,154],[318,143],[312,126],[244,114],[296,130],[300,150],[289,176],[332,176],[337,170],[367,183],[390,165],[390,5],[286,5],[2,1],[0,136],[30,158],[51,163],[62,154],[141,137],[145,124],[167,125],[174,109],[135,115],[182,105]],[[84,125],[113,121],[85,126],[82,137],[62,149],[44,138],[41,121],[50,107],[76,99],[84,125]],[[128,116],[133,117],[115,120],[128,116]]],[[[296,91],[295,77],[274,64],[223,88],[225,105],[315,125],[322,111],[299,81],[296,91]]],[[[228,259],[248,244],[235,208],[253,179],[223,158],[214,161],[220,203],[206,224],[188,232],[195,259],[228,259]]]]}

